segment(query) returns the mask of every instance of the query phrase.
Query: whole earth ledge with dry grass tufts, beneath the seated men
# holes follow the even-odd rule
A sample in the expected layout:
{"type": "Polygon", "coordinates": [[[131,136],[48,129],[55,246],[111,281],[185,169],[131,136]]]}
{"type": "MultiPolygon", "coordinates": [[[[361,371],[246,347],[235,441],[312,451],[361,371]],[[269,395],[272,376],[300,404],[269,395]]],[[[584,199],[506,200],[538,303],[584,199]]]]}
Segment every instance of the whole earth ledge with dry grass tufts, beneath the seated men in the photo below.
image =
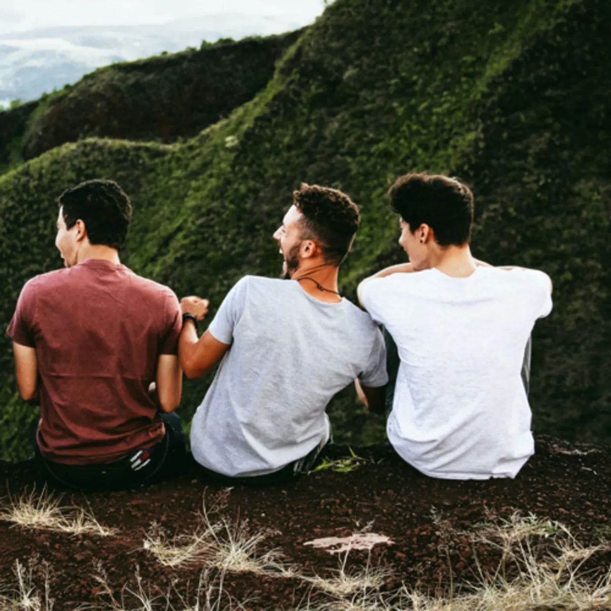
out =
{"type": "Polygon", "coordinates": [[[240,603],[433,609],[425,605],[435,597],[452,609],[611,607],[611,447],[538,437],[536,455],[515,480],[489,481],[433,480],[390,447],[353,450],[334,447],[328,468],[271,488],[227,489],[192,469],[149,488],[64,494],[54,514],[59,530],[10,521],[24,492],[34,505],[47,493],[31,462],[0,463],[0,609],[30,608],[9,605],[21,596],[19,571],[27,596],[38,597],[41,609],[45,596],[54,599],[56,611],[165,609],[168,600],[180,611],[240,603]],[[80,522],[74,507],[85,510],[80,522]],[[93,516],[97,526],[88,529],[93,516]],[[80,534],[70,532],[79,524],[80,534]],[[306,545],[364,532],[391,543],[347,556],[306,545]],[[244,549],[229,554],[230,540],[240,537],[244,549]],[[551,582],[532,583],[538,579],[551,582]],[[484,596],[482,580],[486,596],[498,600],[473,598],[484,596]],[[424,596],[420,606],[414,589],[424,596]]]}

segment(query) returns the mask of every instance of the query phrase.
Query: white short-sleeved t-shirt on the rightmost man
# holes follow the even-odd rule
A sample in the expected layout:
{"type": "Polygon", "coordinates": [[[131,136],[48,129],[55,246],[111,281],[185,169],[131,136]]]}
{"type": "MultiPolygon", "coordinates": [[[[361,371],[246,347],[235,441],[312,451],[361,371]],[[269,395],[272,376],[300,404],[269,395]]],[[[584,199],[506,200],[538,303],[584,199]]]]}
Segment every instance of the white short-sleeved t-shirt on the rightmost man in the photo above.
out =
{"type": "Polygon", "coordinates": [[[431,477],[515,477],[534,453],[521,368],[535,321],[552,309],[546,274],[433,268],[370,280],[360,297],[398,348],[387,423],[397,453],[431,477]]]}

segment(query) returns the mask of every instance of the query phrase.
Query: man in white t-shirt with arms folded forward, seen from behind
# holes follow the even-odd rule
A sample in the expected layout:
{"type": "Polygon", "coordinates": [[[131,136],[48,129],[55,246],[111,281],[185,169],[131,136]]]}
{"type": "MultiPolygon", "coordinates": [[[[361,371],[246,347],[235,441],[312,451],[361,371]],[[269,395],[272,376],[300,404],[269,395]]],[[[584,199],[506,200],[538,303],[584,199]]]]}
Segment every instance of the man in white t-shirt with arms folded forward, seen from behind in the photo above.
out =
{"type": "Polygon", "coordinates": [[[431,477],[515,477],[534,452],[521,371],[533,325],[552,309],[551,280],[475,260],[473,195],[458,180],[408,174],[389,194],[410,263],[358,290],[400,359],[389,440],[431,477]]]}

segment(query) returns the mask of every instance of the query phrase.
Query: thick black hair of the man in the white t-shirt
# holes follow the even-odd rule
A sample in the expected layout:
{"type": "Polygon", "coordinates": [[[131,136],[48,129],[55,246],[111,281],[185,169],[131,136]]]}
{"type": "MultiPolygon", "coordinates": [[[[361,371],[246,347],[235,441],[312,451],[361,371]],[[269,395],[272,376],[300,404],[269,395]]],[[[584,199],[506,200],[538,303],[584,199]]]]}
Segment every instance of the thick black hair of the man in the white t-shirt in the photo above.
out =
{"type": "Polygon", "coordinates": [[[439,246],[463,246],[471,240],[473,194],[456,178],[440,174],[406,174],[389,191],[392,209],[414,233],[423,223],[439,246]]]}

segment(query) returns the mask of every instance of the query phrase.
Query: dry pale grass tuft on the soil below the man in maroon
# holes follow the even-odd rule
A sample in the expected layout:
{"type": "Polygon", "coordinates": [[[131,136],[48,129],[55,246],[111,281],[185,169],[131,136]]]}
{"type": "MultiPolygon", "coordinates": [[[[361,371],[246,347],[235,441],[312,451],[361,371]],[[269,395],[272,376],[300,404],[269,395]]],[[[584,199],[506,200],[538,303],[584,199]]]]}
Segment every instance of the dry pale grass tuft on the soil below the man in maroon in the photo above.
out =
{"type": "Polygon", "coordinates": [[[90,509],[61,507],[62,497],[54,497],[46,488],[37,494],[24,492],[20,497],[0,503],[0,520],[13,522],[25,529],[53,530],[70,535],[111,536],[115,530],[97,521],[90,509]]]}

